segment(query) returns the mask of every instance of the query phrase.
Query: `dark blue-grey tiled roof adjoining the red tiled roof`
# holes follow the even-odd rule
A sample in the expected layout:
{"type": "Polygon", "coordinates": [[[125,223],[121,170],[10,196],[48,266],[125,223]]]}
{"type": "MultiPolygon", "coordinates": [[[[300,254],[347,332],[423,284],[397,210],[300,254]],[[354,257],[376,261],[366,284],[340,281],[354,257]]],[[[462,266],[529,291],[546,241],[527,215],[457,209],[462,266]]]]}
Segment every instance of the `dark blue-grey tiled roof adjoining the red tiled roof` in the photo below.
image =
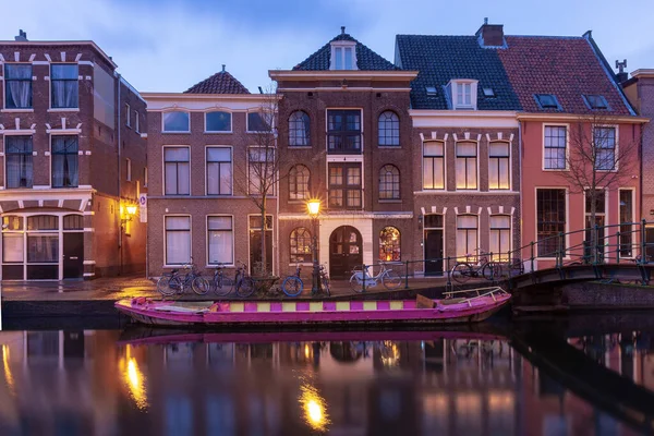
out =
{"type": "Polygon", "coordinates": [[[444,87],[452,78],[479,81],[480,110],[522,109],[498,50],[482,48],[476,36],[398,35],[396,47],[402,69],[419,71],[411,84],[413,109],[448,109],[444,87]],[[427,86],[436,87],[436,96],[427,96],[427,86]],[[485,97],[485,87],[492,88],[495,97],[485,97]]]}

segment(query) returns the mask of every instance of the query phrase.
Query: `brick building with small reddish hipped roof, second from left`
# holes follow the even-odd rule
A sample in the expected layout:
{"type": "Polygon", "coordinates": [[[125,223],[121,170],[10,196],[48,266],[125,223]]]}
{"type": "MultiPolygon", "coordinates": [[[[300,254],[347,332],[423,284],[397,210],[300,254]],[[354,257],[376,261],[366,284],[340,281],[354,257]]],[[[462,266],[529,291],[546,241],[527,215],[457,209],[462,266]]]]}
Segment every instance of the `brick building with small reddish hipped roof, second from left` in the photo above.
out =
{"type": "MultiPolygon", "coordinates": [[[[261,262],[262,219],[249,178],[262,109],[223,68],[184,93],[144,93],[148,110],[148,269],[193,257],[201,268],[261,262]]],[[[267,258],[276,268],[277,199],[267,204],[267,258]]]]}

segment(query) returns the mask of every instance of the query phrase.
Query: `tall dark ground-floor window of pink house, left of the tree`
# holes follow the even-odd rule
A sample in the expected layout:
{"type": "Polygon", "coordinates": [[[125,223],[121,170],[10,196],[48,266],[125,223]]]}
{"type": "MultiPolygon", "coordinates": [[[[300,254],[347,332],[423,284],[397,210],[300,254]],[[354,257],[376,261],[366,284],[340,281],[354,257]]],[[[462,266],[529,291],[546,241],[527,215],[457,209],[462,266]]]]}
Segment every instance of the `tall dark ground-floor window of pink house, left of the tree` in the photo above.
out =
{"type": "Polygon", "coordinates": [[[556,257],[559,233],[566,231],[566,190],[536,190],[538,257],[556,257]]]}

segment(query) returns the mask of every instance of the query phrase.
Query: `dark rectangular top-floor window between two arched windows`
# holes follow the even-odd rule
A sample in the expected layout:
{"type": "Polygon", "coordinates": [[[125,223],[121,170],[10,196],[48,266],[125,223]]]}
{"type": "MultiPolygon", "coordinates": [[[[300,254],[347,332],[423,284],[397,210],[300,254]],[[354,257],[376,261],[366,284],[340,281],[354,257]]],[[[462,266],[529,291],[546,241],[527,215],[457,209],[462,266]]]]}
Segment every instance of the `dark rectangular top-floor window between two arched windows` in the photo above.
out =
{"type": "Polygon", "coordinates": [[[327,111],[328,152],[334,154],[361,153],[361,111],[327,111]]]}

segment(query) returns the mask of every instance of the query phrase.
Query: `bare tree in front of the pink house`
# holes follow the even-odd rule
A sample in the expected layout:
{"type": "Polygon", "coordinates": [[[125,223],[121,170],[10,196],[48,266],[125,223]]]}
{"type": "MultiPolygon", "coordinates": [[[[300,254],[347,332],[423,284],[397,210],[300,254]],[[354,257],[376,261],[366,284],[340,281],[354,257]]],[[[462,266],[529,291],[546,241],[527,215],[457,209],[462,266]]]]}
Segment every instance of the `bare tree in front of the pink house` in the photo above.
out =
{"type": "MultiPolygon", "coordinates": [[[[571,192],[584,194],[590,203],[590,227],[597,222],[597,205],[605,201],[605,190],[622,185],[638,164],[640,140],[621,141],[627,135],[618,137],[618,125],[615,118],[601,113],[579,117],[570,124],[569,149],[564,150],[566,170],[559,174],[571,192]]],[[[586,242],[597,246],[597,232],[591,230],[590,235],[586,242]]],[[[593,256],[596,252],[593,250],[593,256]]]]}

